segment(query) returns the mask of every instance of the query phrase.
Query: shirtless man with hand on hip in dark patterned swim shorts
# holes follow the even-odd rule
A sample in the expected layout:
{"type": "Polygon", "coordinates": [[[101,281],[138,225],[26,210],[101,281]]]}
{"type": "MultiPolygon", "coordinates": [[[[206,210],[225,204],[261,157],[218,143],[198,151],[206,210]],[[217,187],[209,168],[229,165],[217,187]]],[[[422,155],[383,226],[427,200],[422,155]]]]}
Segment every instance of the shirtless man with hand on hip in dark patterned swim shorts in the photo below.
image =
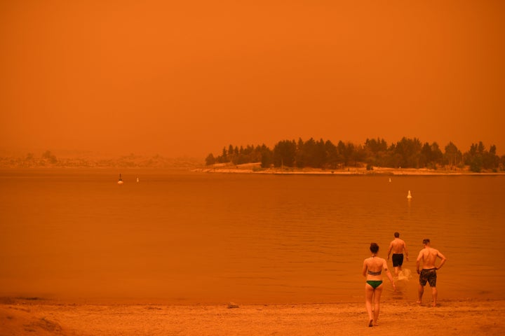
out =
{"type": "Polygon", "coordinates": [[[437,269],[442,268],[447,259],[445,256],[440,253],[440,251],[435,248],[430,247],[429,239],[423,240],[424,248],[419,251],[419,255],[417,256],[416,267],[417,274],[419,274],[419,300],[417,303],[421,304],[422,295],[424,293],[424,286],[426,286],[426,282],[429,283],[431,287],[431,296],[433,297],[433,307],[436,307],[437,300],[437,289],[436,289],[436,271],[437,269]],[[440,265],[435,266],[436,258],[440,258],[440,265]],[[419,272],[419,265],[423,262],[423,268],[419,272]]]}

